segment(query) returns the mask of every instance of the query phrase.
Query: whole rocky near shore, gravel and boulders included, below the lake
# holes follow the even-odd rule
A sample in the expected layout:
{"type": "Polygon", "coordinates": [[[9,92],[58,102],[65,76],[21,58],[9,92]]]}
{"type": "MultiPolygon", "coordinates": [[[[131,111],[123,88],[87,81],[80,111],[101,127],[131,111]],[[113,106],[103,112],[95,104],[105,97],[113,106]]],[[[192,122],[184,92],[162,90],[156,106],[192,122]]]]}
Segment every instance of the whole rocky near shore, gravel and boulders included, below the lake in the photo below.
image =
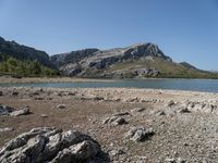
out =
{"type": "Polygon", "coordinates": [[[217,93],[1,87],[0,162],[217,162],[217,93]]]}

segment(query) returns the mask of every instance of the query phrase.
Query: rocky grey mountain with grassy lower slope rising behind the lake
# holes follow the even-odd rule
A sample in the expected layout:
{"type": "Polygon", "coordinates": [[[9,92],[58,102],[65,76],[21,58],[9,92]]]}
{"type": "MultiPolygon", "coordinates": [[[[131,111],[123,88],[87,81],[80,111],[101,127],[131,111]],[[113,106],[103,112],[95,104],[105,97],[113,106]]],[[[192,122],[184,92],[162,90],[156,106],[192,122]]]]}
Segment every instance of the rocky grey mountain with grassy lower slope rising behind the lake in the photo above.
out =
{"type": "Polygon", "coordinates": [[[217,78],[217,74],[175,63],[157,45],[147,42],[109,50],[83,49],[50,58],[65,75],[76,77],[144,78],[184,77],[217,78]]]}

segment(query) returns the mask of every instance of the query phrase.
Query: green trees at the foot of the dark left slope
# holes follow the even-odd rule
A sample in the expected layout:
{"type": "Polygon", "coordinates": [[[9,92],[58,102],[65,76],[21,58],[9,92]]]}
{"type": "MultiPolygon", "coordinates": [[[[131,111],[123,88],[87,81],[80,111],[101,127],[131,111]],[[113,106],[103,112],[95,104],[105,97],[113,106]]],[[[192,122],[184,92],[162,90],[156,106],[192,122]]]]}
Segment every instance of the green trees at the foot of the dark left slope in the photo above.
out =
{"type": "Polygon", "coordinates": [[[44,66],[39,61],[17,60],[0,54],[0,74],[14,76],[57,76],[59,71],[44,66]]]}

